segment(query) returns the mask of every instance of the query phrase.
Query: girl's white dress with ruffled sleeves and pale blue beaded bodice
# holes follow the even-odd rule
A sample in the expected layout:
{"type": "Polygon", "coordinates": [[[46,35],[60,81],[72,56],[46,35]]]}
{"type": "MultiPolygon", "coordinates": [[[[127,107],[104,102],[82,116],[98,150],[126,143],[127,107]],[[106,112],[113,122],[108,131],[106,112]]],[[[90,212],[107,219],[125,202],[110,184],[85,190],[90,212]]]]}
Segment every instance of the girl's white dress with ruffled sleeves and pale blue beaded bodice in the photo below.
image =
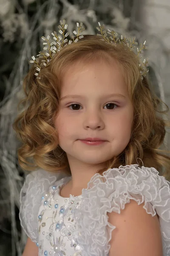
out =
{"type": "MultiPolygon", "coordinates": [[[[163,255],[170,256],[170,182],[155,168],[139,165],[95,174],[82,195],[60,196],[71,179],[42,169],[26,177],[20,194],[20,221],[37,243],[39,256],[108,256],[111,233],[107,212],[120,213],[130,199],[159,215],[163,255]]],[[[114,231],[113,231],[114,232],[114,231]]]]}

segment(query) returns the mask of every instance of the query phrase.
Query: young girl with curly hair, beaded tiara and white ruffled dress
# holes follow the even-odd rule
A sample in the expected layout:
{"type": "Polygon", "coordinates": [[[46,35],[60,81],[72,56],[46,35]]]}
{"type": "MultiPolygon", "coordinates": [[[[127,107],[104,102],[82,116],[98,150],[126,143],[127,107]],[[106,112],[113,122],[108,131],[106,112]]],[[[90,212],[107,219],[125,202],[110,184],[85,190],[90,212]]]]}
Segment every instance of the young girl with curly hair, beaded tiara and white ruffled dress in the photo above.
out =
{"type": "Polygon", "coordinates": [[[24,80],[14,129],[19,163],[34,172],[20,198],[23,256],[170,256],[166,111],[140,61],[147,47],[135,53],[100,24],[101,37],[82,38],[77,26],[72,44],[65,21],[62,37],[42,37],[24,80]]]}

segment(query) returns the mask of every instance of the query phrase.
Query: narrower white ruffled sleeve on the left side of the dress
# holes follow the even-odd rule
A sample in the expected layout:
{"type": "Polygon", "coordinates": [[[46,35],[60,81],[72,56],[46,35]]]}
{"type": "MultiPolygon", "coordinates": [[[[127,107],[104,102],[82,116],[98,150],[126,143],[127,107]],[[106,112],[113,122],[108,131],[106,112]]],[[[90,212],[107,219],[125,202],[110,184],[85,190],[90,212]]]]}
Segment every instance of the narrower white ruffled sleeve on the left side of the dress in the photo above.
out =
{"type": "Polygon", "coordinates": [[[66,177],[63,172],[50,173],[43,169],[33,171],[26,176],[20,192],[19,217],[23,230],[33,242],[38,242],[38,212],[42,195],[63,177],[66,177]]]}

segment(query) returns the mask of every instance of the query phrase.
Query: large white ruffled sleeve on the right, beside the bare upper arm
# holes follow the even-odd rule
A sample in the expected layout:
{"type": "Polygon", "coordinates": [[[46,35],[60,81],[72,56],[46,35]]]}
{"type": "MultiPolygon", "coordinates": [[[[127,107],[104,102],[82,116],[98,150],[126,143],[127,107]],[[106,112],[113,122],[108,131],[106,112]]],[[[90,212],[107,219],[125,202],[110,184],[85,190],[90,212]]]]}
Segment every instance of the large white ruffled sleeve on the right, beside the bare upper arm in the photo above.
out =
{"type": "Polygon", "coordinates": [[[170,256],[170,182],[155,168],[138,165],[108,169],[94,175],[82,190],[80,209],[74,210],[76,236],[83,256],[108,256],[112,231],[107,212],[117,212],[135,200],[152,216],[159,215],[164,256],[170,256]]]}

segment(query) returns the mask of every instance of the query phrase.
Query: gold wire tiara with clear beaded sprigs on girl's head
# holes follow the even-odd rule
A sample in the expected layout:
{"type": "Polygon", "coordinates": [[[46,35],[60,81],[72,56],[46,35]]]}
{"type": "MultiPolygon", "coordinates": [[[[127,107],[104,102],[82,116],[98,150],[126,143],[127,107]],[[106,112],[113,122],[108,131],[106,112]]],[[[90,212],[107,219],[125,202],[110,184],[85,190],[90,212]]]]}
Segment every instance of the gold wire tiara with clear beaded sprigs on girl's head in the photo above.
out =
{"type": "MultiPolygon", "coordinates": [[[[51,59],[54,57],[54,55],[59,52],[63,47],[71,43],[77,43],[79,39],[84,37],[83,35],[80,35],[85,30],[82,25],[82,22],[80,24],[77,22],[78,32],[74,30],[74,35],[71,35],[71,40],[69,41],[67,39],[69,33],[65,32],[68,28],[68,24],[65,24],[65,20],[60,20],[60,25],[58,26],[58,32],[60,35],[57,34],[57,32],[55,31],[51,33],[54,41],[50,43],[50,35],[48,35],[47,38],[42,36],[42,40],[44,41],[43,45],[45,47],[43,47],[43,51],[39,52],[36,58],[32,56],[32,60],[30,61],[31,63],[34,63],[34,67],[36,67],[37,72],[35,73],[35,76],[37,76],[37,79],[40,79],[40,70],[42,65],[46,66],[48,62],[51,61],[51,59]],[[65,44],[67,42],[68,44],[65,44]]],[[[99,27],[96,27],[96,29],[100,32],[100,34],[97,35],[102,37],[101,40],[105,41],[108,44],[122,44],[125,47],[128,47],[130,51],[133,51],[136,48],[136,45],[138,45],[138,43],[135,42],[135,37],[133,38],[133,41],[131,40],[131,38],[126,38],[122,35],[120,38],[118,38],[118,34],[115,31],[111,31],[110,29],[107,29],[107,31],[105,31],[104,28],[105,25],[101,26],[101,24],[99,23],[99,27]]],[[[144,41],[143,45],[140,44],[140,48],[137,47],[136,53],[136,56],[139,58],[139,72],[142,79],[149,72],[149,70],[147,69],[148,58],[144,59],[143,62],[140,61],[143,55],[143,50],[148,49],[145,44],[146,41],[144,41]]]]}

